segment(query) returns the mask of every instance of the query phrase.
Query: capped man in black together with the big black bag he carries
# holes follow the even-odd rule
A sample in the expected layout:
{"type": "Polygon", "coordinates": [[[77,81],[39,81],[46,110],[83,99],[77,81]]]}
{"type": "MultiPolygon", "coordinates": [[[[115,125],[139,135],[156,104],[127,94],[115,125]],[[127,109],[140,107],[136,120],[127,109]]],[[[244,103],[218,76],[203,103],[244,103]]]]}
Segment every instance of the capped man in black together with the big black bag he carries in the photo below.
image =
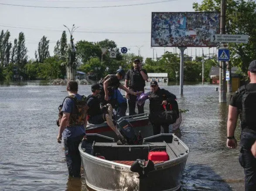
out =
{"type": "Polygon", "coordinates": [[[151,92],[147,92],[150,101],[148,118],[153,126],[153,133],[160,134],[161,126],[164,128],[164,133],[169,133],[169,125],[176,122],[179,117],[176,95],[160,89],[155,80],[150,82],[150,89],[151,92]]]}

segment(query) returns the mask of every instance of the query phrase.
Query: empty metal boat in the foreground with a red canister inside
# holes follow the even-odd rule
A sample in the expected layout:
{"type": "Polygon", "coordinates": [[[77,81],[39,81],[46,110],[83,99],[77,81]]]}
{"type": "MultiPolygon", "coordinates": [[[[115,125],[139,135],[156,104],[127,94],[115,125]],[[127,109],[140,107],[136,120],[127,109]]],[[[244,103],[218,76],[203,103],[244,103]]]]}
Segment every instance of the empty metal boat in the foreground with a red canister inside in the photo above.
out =
{"type": "Polygon", "coordinates": [[[144,138],[142,145],[117,145],[113,138],[87,134],[79,151],[86,184],[96,191],[176,191],[189,148],[174,134],[144,138]],[[150,158],[151,153],[168,159],[150,158]]]}

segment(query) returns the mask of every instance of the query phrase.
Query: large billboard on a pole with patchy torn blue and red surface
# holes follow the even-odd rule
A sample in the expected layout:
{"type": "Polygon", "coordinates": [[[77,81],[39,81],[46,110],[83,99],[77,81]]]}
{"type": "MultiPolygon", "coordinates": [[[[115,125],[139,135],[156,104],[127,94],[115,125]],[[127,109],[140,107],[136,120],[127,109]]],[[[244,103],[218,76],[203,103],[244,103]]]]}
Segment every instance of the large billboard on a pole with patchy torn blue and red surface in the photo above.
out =
{"type": "Polygon", "coordinates": [[[212,47],[219,29],[218,12],[153,12],[151,46],[212,47]]]}

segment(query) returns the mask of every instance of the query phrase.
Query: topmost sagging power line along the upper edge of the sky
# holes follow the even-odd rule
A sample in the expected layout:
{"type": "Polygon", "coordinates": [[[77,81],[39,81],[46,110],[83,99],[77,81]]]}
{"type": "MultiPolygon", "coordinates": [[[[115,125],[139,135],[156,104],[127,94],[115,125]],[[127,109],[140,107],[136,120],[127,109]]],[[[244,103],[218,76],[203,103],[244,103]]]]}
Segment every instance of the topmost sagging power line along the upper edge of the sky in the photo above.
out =
{"type": "Polygon", "coordinates": [[[17,4],[7,4],[7,3],[0,3],[0,5],[15,6],[15,7],[53,8],[53,9],[92,9],[92,8],[110,8],[110,7],[131,7],[131,6],[139,6],[139,5],[164,3],[169,1],[176,1],[176,0],[163,0],[163,1],[150,2],[150,3],[137,3],[137,4],[129,4],[129,5],[113,5],[113,6],[102,6],[102,7],[97,7],[97,6],[94,6],[94,7],[44,7],[44,6],[17,5],[17,4]]]}

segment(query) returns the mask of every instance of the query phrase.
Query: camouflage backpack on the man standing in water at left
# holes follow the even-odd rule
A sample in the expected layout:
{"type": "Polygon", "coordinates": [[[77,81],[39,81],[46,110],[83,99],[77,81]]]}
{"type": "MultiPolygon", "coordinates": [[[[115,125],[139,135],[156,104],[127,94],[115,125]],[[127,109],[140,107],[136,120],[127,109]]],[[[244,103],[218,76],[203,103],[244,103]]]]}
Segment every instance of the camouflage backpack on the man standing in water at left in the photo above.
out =
{"type": "MultiPolygon", "coordinates": [[[[75,110],[72,113],[70,113],[67,126],[84,125],[86,122],[86,115],[87,115],[87,109],[88,109],[86,97],[82,95],[82,99],[78,100],[74,95],[70,95],[65,97],[65,99],[66,98],[72,99],[73,102],[75,103],[75,107],[74,107],[75,110]]],[[[63,116],[63,112],[61,111],[61,109],[63,107],[63,103],[65,99],[63,100],[62,104],[59,105],[58,107],[59,114],[58,114],[58,120],[56,121],[58,126],[61,125],[61,118],[63,116]]]]}

